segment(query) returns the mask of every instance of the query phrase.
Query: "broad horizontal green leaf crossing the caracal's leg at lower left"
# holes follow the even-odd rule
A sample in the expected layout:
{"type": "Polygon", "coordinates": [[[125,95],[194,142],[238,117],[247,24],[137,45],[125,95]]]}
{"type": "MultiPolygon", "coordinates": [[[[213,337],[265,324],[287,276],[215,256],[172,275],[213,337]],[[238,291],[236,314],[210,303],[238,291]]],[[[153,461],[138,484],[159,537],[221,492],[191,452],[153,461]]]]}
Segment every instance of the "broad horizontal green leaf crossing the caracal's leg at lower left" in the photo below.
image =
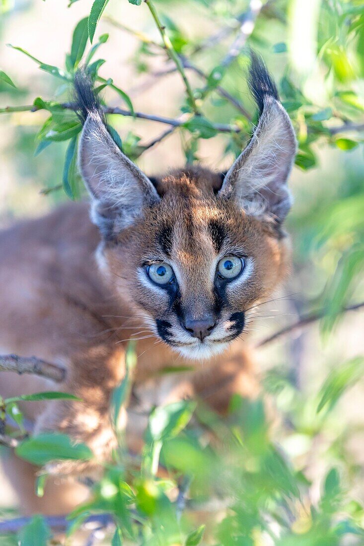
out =
{"type": "Polygon", "coordinates": [[[92,459],[91,449],[83,443],[74,443],[66,434],[44,432],[27,438],[17,446],[15,453],[21,459],[43,466],[49,461],[92,459]]]}

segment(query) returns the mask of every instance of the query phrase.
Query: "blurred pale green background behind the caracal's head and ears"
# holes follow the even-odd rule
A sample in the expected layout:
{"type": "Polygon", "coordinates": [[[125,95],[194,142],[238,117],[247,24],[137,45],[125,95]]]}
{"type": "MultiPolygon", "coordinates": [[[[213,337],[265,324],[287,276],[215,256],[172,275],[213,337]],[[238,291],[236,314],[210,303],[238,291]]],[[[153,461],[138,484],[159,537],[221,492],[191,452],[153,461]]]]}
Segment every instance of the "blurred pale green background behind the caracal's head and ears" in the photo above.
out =
{"type": "MultiPolygon", "coordinates": [[[[157,0],[155,4],[175,51],[185,66],[186,59],[193,65],[185,72],[208,123],[203,129],[187,123],[150,145],[168,125],[121,115],[109,116],[109,122],[126,153],[146,174],[186,161],[227,169],[256,121],[246,89],[246,46],[263,56],[292,118],[300,149],[290,179],[295,204],[287,220],[292,273],[275,299],[257,311],[251,340],[260,343],[302,317],[324,315],[257,348],[256,359],[266,395],[277,408],[274,440],[311,480],[310,502],[319,498],[328,470],[338,468],[347,506],[362,525],[364,308],[342,309],[364,301],[364,3],[157,0]],[[241,130],[216,132],[215,123],[238,125],[241,130]],[[324,409],[317,412],[325,393],[324,409]]],[[[67,79],[55,78],[39,64],[67,69],[65,56],[72,54],[74,29],[91,7],[89,0],[71,1],[69,7],[67,0],[0,1],[0,70],[16,86],[0,78],[4,226],[83,197],[77,174],[66,169],[64,180],[69,141],[49,139],[48,133],[57,132],[71,114],[64,112],[57,120],[50,103],[34,112],[31,106],[8,113],[2,109],[32,105],[37,97],[61,103],[69,99],[67,79]]],[[[181,76],[158,45],[161,38],[144,3],[110,0],[96,28],[93,46],[98,43],[92,62],[104,59],[98,76],[113,80],[102,91],[108,106],[130,110],[130,99],[135,111],[191,117],[181,76]]],[[[84,58],[88,51],[90,43],[84,58]]],[[[0,480],[0,504],[3,509],[15,508],[5,477],[0,480]]]]}

